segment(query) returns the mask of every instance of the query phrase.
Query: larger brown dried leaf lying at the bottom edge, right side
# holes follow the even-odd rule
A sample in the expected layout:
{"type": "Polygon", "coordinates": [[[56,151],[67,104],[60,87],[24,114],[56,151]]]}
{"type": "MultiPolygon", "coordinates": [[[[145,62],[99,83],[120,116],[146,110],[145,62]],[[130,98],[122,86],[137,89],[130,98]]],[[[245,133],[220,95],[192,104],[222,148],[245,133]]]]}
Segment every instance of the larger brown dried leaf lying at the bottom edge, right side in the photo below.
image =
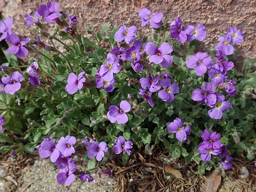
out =
{"type": "Polygon", "coordinates": [[[221,173],[216,174],[215,171],[207,177],[204,184],[204,190],[207,192],[217,192],[218,187],[221,184],[221,173]]]}

